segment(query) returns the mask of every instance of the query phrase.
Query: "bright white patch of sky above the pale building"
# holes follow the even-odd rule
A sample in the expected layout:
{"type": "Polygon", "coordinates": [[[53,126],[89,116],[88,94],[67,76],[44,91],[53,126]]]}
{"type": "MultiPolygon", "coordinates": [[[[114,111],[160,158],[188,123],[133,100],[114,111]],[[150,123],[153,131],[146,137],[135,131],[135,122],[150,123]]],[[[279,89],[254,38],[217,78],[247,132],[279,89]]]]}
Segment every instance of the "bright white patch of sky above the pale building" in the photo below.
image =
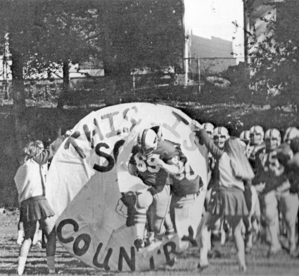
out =
{"type": "MultiPolygon", "coordinates": [[[[185,27],[194,35],[220,37],[233,41],[233,49],[242,61],[244,57],[243,1],[242,0],[184,0],[185,27]],[[236,28],[231,22],[237,21],[236,28]],[[234,39],[233,39],[234,37],[234,39]]],[[[244,60],[244,59],[243,59],[244,60]]]]}

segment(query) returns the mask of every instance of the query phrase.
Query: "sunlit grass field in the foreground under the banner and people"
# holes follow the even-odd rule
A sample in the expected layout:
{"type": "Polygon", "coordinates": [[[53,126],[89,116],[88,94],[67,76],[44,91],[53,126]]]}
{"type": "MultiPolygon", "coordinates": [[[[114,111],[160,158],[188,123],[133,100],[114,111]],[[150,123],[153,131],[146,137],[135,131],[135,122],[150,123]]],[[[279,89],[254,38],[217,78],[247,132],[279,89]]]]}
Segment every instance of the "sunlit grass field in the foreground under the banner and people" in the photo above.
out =
{"type": "MultiPolygon", "coordinates": [[[[7,212],[0,217],[0,275],[16,274],[19,246],[17,245],[17,212],[7,212]]],[[[215,247],[222,257],[210,259],[210,266],[200,275],[240,275],[236,261],[236,250],[231,241],[215,247]]],[[[248,271],[245,275],[298,275],[299,261],[287,252],[267,258],[268,246],[258,241],[250,254],[246,255],[248,271]]],[[[59,275],[198,275],[198,248],[190,248],[177,259],[174,266],[162,266],[146,272],[113,272],[88,267],[74,258],[57,243],[56,269],[59,275]]],[[[45,249],[32,247],[29,253],[25,275],[46,274],[45,249]]]]}

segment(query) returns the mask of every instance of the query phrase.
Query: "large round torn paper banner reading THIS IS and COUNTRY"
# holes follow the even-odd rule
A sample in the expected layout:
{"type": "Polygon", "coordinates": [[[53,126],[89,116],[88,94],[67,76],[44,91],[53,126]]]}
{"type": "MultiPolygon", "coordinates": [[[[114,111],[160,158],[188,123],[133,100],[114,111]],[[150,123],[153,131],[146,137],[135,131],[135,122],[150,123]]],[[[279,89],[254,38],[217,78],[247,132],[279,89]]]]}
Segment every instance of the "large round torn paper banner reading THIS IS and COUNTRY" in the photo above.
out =
{"type": "MultiPolygon", "coordinates": [[[[79,121],[54,156],[46,181],[59,242],[86,264],[113,271],[154,269],[181,251],[186,233],[178,232],[137,252],[121,193],[145,188],[128,173],[126,161],[138,132],[152,126],[180,145],[188,160],[184,177],[200,176],[206,187],[206,159],[194,142],[191,121],[176,108],[150,103],[106,107],[79,121]]],[[[186,216],[179,217],[186,221],[186,216]]]]}

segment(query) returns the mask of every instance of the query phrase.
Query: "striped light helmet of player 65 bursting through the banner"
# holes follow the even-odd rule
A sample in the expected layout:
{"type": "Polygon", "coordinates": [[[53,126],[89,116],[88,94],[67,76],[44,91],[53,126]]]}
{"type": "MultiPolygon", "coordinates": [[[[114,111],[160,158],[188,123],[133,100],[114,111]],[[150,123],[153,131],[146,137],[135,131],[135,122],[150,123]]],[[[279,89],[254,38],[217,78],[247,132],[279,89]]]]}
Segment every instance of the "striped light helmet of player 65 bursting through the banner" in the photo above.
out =
{"type": "Polygon", "coordinates": [[[146,128],[140,131],[137,135],[137,145],[142,155],[149,157],[153,154],[154,150],[158,146],[157,134],[154,130],[146,128]]]}

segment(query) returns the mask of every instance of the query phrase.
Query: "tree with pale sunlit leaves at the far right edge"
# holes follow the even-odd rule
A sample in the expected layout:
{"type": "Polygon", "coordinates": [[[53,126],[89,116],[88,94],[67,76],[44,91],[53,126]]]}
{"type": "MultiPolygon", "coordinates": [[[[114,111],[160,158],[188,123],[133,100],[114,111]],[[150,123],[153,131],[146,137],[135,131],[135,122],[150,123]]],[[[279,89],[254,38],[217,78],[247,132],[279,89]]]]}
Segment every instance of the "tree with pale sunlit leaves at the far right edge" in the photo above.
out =
{"type": "Polygon", "coordinates": [[[298,16],[298,1],[276,3],[276,18],[262,18],[268,35],[258,41],[256,34],[253,34],[250,43],[252,85],[261,94],[278,95],[279,104],[292,104],[294,111],[299,106],[298,16]]]}

